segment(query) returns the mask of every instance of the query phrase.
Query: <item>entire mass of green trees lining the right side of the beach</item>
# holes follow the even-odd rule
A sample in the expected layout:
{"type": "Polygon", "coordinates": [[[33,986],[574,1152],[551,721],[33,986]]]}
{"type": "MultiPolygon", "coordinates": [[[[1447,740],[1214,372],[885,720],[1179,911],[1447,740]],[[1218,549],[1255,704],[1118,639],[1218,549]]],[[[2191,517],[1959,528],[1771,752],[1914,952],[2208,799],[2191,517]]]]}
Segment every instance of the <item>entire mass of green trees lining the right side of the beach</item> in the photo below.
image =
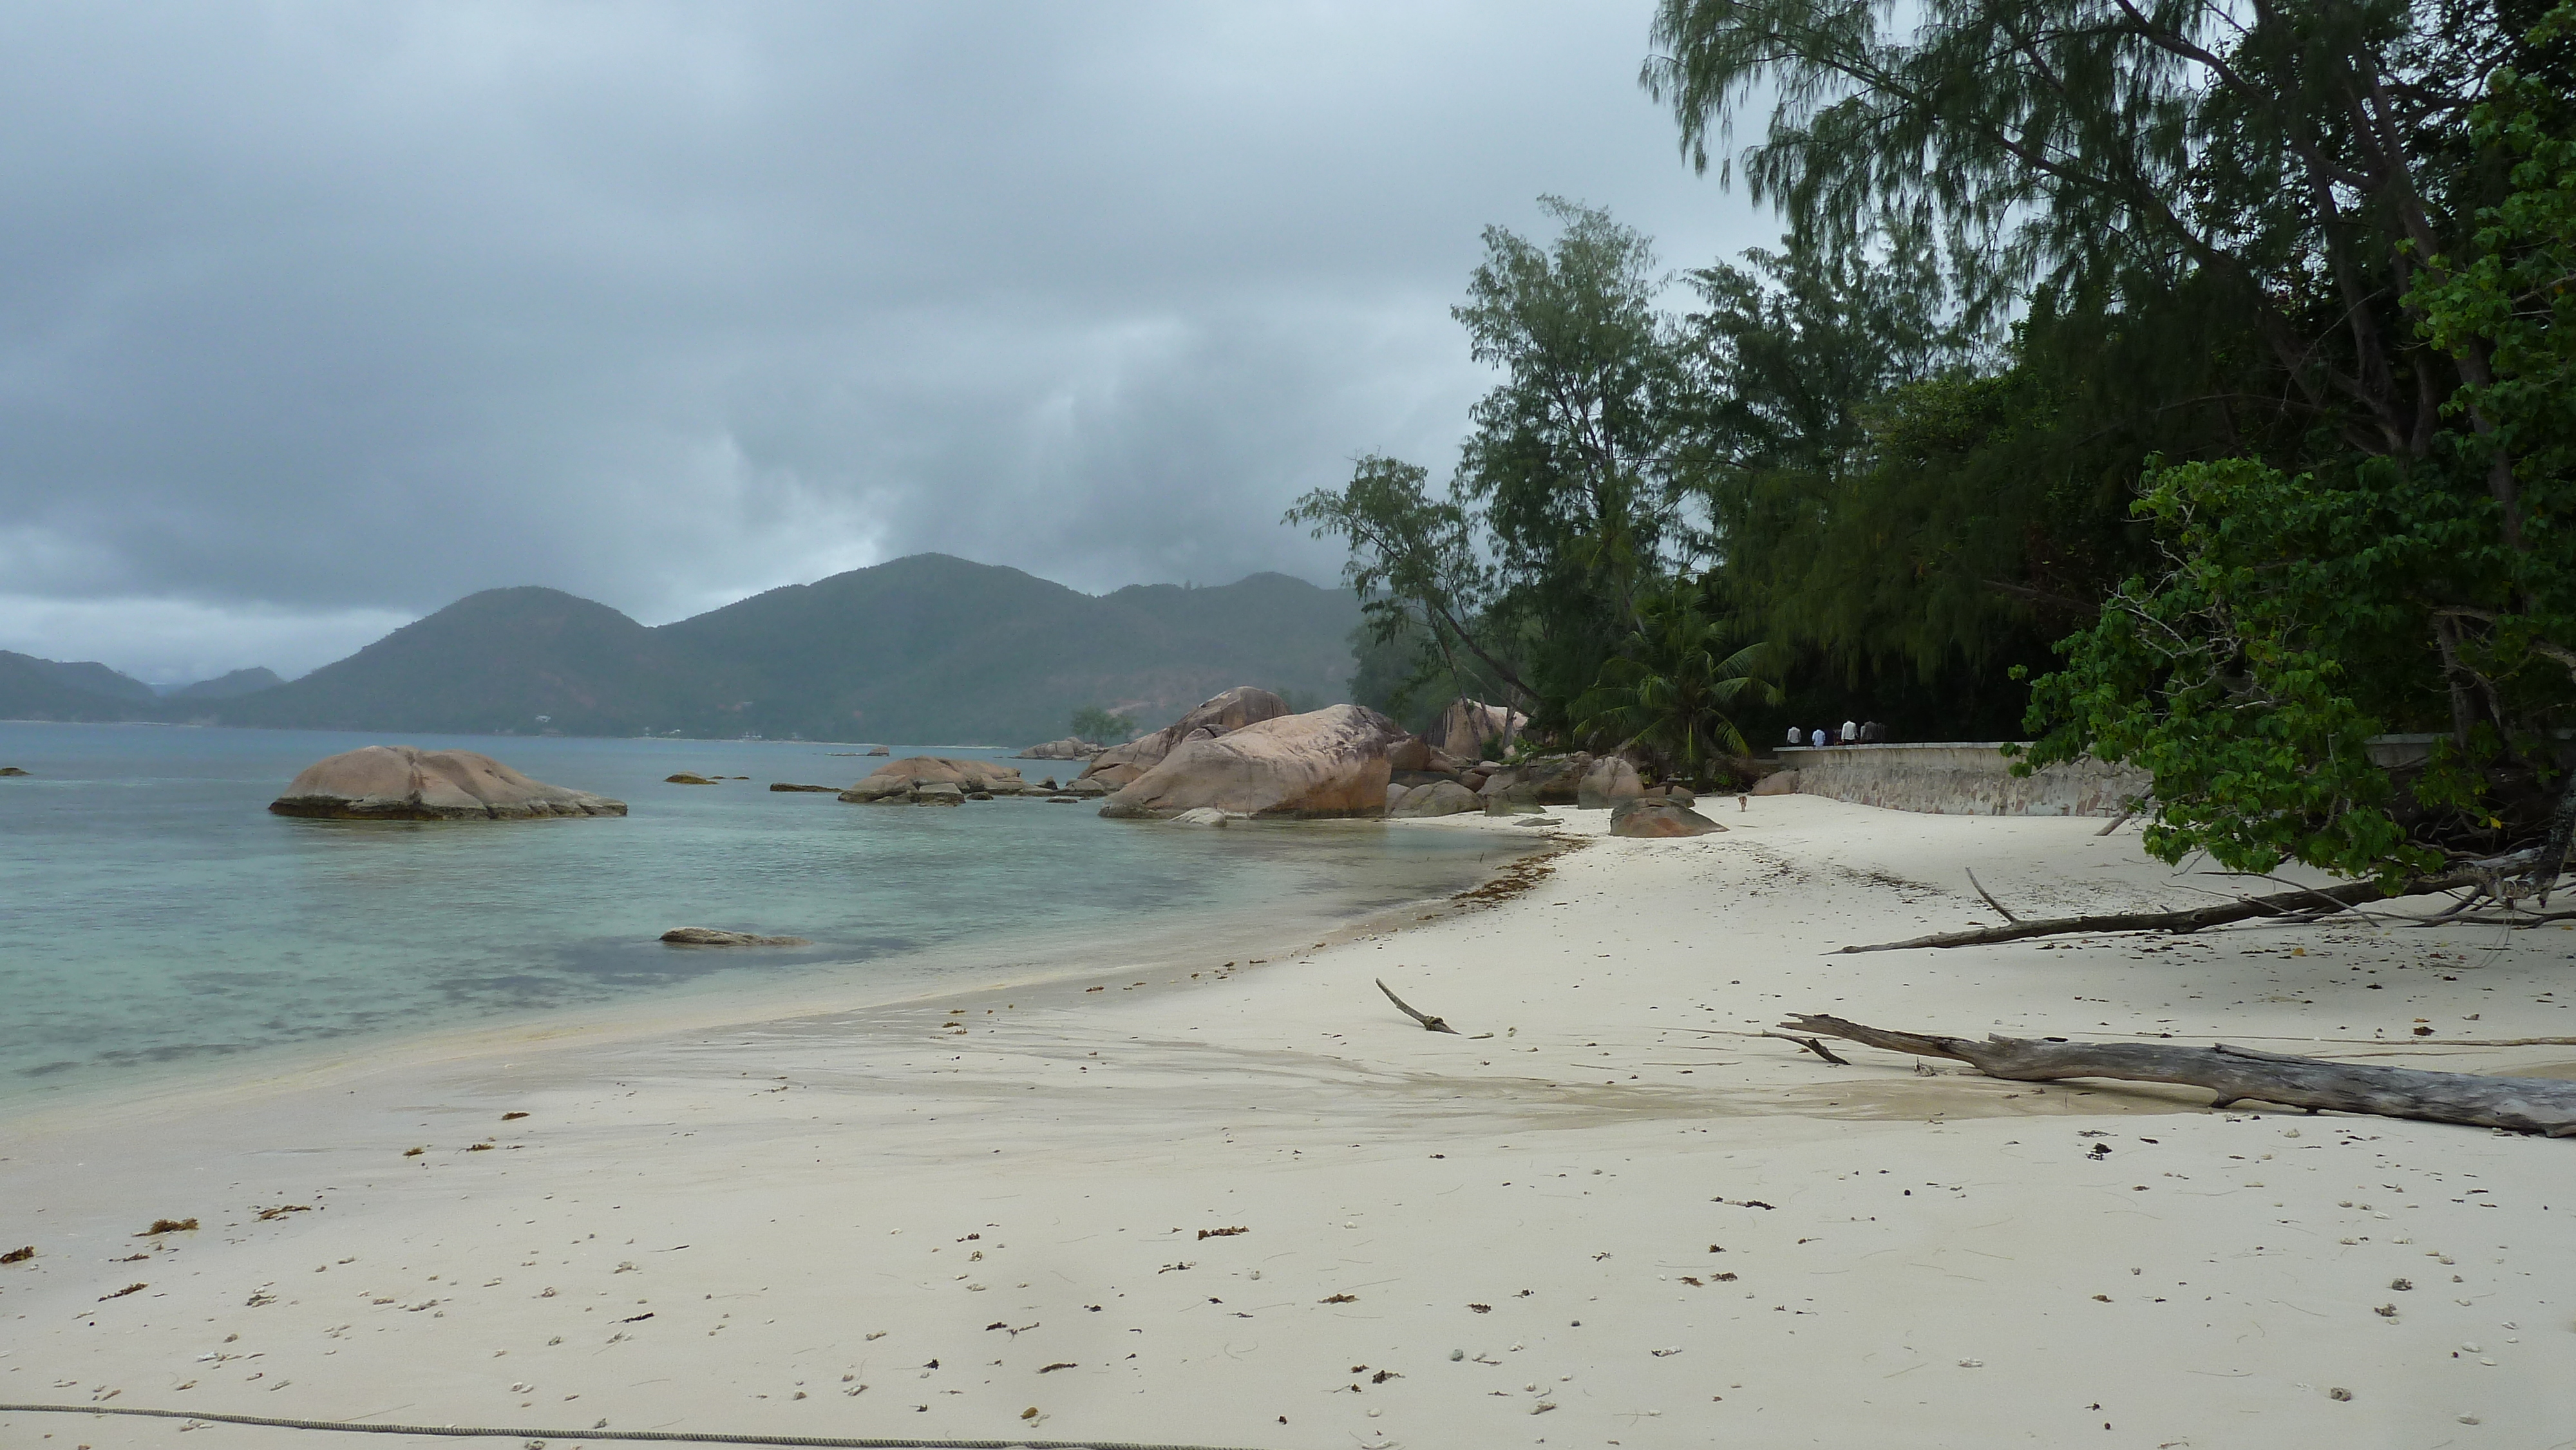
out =
{"type": "Polygon", "coordinates": [[[1739,713],[2027,726],[2239,868],[2576,840],[2576,10],[1664,0],[1651,46],[1783,242],[1486,232],[1448,487],[1291,513],[1376,688],[1682,770],[1739,713]]]}

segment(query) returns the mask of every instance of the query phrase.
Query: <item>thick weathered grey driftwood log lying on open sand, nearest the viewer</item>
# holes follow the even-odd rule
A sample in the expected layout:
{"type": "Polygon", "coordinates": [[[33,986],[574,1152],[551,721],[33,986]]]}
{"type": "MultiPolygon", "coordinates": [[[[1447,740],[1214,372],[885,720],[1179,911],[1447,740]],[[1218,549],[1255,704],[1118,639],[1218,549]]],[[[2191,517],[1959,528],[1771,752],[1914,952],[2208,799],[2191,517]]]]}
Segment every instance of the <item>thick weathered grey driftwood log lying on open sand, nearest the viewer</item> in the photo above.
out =
{"type": "Polygon", "coordinates": [[[2550,1077],[2481,1077],[2414,1066],[2360,1066],[2324,1059],[2262,1053],[2254,1048],[2177,1048],[2166,1043],[2069,1043],[2061,1038],[1940,1038],[1862,1028],[1842,1017],[1790,1017],[1795,1033],[1844,1038],[1891,1053],[1963,1061],[1986,1077],[2058,1082],[2107,1077],[2115,1082],[2174,1082],[2208,1087],[2210,1107],[2280,1102],[2311,1113],[2372,1113],[2468,1123],[2514,1133],[2576,1136],[2576,1082],[2550,1077]]]}

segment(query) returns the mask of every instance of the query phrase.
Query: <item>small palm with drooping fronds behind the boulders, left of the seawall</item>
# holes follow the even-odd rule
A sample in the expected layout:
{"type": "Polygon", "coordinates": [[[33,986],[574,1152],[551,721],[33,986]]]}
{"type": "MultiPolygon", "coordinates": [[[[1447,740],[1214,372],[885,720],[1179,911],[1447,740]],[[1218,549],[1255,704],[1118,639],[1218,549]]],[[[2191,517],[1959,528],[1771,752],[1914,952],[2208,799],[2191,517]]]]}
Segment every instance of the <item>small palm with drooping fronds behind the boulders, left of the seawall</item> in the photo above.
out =
{"type": "Polygon", "coordinates": [[[1752,755],[1728,711],[1783,701],[1777,649],[1728,649],[1728,626],[1708,618],[1690,587],[1638,600],[1636,613],[1638,628],[1574,701],[1577,731],[1618,739],[1610,749],[1641,747],[1687,780],[1705,780],[1723,757],[1752,755]]]}

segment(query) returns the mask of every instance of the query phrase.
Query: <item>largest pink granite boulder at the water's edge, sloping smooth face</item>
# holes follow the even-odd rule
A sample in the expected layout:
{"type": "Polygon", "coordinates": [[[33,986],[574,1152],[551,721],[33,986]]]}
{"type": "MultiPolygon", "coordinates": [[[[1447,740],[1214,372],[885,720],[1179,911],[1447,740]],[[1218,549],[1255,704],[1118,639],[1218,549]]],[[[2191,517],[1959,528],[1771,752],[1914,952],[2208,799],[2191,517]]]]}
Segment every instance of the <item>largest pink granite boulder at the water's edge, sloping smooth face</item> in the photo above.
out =
{"type": "Polygon", "coordinates": [[[1365,706],[1252,721],[1185,739],[1103,801],[1103,816],[1177,816],[1213,806],[1236,816],[1376,816],[1386,809],[1386,752],[1404,726],[1365,706]]]}

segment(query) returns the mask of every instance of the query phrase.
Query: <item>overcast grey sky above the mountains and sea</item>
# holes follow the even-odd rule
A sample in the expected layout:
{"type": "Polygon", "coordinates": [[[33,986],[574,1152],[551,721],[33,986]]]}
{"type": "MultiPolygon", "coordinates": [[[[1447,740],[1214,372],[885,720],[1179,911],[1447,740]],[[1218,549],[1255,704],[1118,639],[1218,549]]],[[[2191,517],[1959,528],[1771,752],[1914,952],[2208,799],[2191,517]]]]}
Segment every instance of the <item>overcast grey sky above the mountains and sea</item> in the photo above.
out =
{"type": "Polygon", "coordinates": [[[938,549],[1329,582],[1445,476],[1479,229],[1765,245],[1649,0],[5,5],[0,649],[296,675],[495,585],[647,623],[938,549]]]}

